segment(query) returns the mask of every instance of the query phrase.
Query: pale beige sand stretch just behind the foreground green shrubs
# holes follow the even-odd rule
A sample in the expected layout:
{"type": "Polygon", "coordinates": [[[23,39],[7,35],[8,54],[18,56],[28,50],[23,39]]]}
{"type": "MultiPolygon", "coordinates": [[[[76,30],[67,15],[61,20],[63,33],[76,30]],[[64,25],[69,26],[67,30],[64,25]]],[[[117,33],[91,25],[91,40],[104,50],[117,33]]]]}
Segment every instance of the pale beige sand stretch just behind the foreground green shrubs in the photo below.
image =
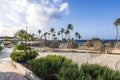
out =
{"type": "Polygon", "coordinates": [[[64,52],[40,52],[39,56],[44,57],[47,55],[61,55],[66,58],[70,58],[73,62],[79,64],[90,63],[90,64],[99,64],[101,66],[108,66],[114,70],[120,70],[120,55],[113,54],[93,54],[93,53],[64,53],[64,52]]]}

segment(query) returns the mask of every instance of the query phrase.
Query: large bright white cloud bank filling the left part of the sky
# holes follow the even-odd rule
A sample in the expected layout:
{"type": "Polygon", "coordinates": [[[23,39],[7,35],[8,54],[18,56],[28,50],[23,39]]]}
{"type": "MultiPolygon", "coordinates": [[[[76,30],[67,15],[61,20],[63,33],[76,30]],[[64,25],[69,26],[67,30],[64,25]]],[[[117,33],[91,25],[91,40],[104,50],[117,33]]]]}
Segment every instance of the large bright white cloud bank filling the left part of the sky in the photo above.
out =
{"type": "Polygon", "coordinates": [[[69,4],[62,0],[0,0],[0,36],[12,36],[29,26],[32,31],[69,14],[69,4]]]}

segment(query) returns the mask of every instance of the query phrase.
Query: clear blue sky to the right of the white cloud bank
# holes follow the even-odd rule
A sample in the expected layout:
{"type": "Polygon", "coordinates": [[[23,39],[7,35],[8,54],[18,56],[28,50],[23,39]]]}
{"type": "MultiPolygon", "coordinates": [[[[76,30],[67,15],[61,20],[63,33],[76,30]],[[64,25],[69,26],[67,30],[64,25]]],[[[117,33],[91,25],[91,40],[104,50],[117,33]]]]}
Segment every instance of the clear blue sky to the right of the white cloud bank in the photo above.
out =
{"type": "Polygon", "coordinates": [[[65,0],[69,2],[70,14],[56,24],[74,25],[74,32],[79,32],[82,39],[99,37],[114,39],[116,29],[113,22],[120,18],[120,0],[65,0]]]}

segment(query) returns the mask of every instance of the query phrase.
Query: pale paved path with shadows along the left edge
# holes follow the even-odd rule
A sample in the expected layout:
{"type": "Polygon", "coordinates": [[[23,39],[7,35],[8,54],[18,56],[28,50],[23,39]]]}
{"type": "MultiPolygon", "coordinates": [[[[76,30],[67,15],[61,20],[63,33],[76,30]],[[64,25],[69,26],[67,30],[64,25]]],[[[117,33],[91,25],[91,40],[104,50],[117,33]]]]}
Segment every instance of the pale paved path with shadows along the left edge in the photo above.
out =
{"type": "Polygon", "coordinates": [[[0,52],[0,80],[27,80],[12,64],[10,53],[12,48],[4,48],[0,52]]]}

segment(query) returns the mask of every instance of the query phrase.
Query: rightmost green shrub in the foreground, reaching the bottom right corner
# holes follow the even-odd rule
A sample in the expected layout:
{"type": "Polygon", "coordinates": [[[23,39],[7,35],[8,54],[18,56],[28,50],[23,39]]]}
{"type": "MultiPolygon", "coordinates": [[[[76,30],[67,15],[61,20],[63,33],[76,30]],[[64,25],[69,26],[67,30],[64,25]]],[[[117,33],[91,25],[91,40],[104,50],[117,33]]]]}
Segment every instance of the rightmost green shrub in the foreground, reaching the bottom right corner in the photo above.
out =
{"type": "Polygon", "coordinates": [[[80,73],[88,80],[120,80],[120,72],[113,71],[106,66],[97,64],[83,64],[80,68],[80,73]]]}

